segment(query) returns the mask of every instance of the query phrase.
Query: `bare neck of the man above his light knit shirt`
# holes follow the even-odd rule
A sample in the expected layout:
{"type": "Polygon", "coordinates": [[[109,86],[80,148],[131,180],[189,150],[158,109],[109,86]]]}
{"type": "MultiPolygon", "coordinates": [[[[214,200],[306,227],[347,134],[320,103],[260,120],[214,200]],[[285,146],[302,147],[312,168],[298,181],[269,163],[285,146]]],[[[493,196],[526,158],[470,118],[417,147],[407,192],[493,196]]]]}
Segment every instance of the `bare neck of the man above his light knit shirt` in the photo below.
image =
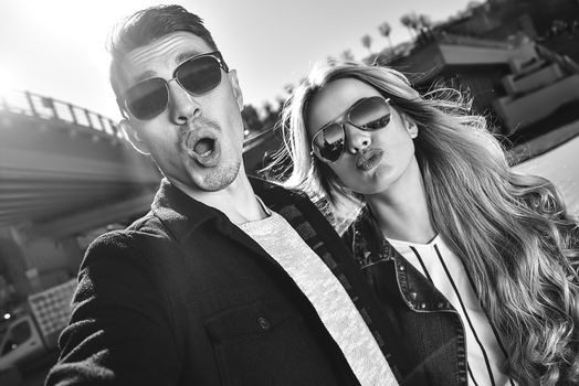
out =
{"type": "Polygon", "coordinates": [[[217,192],[192,190],[178,182],[175,185],[190,197],[223,212],[233,224],[265,218],[267,214],[257,201],[248,175],[240,172],[225,189],[217,192]]]}

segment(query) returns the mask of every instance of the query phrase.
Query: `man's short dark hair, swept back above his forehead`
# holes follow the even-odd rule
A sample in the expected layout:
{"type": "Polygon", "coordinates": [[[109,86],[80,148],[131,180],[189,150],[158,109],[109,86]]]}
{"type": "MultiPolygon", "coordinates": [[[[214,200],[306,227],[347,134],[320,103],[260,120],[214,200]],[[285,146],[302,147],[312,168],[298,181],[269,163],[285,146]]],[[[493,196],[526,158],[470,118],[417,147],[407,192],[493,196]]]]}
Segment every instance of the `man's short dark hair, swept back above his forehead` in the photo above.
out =
{"type": "Polygon", "coordinates": [[[190,32],[201,37],[212,51],[218,51],[211,33],[203,25],[203,20],[180,6],[157,6],[140,10],[115,28],[109,36],[108,52],[113,56],[109,79],[117,98],[123,81],[120,63],[125,55],[178,31],[190,32]]]}

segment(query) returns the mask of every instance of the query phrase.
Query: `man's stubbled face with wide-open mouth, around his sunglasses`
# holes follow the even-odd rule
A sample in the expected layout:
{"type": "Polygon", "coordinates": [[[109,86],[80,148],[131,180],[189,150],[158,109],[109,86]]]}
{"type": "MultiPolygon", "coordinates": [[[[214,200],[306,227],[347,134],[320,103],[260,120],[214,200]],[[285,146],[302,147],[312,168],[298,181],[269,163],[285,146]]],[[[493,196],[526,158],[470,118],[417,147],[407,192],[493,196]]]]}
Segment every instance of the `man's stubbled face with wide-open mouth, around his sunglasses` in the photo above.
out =
{"type": "MultiPolygon", "coordinates": [[[[123,61],[123,92],[140,81],[169,81],[182,62],[212,50],[199,36],[176,32],[131,51],[123,61]]],[[[167,108],[149,120],[124,121],[133,143],[149,153],[165,176],[190,193],[229,186],[242,164],[243,99],[234,71],[221,71],[212,90],[193,96],[168,83],[167,108]]]]}

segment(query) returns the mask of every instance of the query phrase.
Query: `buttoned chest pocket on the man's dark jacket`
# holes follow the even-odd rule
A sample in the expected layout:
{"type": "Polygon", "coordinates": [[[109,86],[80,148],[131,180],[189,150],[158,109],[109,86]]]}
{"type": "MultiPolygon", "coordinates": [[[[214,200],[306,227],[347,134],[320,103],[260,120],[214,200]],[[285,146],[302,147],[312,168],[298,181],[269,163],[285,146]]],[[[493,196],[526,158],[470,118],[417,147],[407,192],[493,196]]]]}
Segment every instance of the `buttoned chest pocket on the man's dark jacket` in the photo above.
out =
{"type": "Polygon", "coordinates": [[[326,385],[316,339],[287,302],[256,301],[206,320],[223,385],[326,385]]]}

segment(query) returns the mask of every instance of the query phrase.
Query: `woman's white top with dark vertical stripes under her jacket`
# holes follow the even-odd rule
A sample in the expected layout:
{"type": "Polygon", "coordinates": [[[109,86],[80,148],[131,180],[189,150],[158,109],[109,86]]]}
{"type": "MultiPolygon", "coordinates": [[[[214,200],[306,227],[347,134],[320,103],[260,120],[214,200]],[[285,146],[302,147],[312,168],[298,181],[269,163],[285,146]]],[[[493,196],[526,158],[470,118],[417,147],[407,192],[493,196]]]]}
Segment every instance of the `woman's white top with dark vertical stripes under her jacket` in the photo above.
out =
{"type": "Polygon", "coordinates": [[[506,363],[506,356],[481,309],[464,266],[442,237],[436,236],[428,244],[390,238],[387,240],[424,275],[459,312],[466,334],[470,384],[515,385],[515,382],[501,371],[506,363]]]}

